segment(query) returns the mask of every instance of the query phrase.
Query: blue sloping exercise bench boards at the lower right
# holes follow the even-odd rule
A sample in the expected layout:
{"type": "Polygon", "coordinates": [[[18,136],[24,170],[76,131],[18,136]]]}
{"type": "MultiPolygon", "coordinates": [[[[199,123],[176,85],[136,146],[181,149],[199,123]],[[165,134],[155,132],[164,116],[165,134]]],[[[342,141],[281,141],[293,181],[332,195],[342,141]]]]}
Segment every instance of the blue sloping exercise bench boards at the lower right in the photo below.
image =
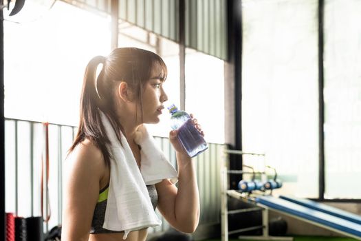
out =
{"type": "Polygon", "coordinates": [[[270,210],[278,211],[287,216],[292,216],[319,227],[361,240],[360,217],[352,217],[353,215],[350,215],[351,213],[346,215],[343,211],[341,212],[339,210],[337,212],[335,209],[328,209],[323,207],[323,205],[311,204],[312,201],[307,204],[306,200],[303,202],[300,200],[299,202],[293,202],[289,199],[286,199],[285,196],[283,196],[283,198],[259,196],[256,198],[256,202],[258,205],[265,206],[270,210]],[[300,203],[304,205],[300,205],[300,203]],[[333,215],[334,213],[338,213],[339,215],[335,216],[333,215]],[[345,219],[345,216],[349,218],[345,219]]]}

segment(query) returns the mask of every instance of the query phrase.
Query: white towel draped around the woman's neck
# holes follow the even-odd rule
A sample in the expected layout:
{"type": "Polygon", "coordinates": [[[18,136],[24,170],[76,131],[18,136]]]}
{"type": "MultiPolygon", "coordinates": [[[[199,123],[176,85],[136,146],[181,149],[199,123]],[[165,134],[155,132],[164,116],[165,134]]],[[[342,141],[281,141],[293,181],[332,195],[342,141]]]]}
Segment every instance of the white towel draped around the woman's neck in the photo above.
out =
{"type": "Polygon", "coordinates": [[[113,231],[124,231],[125,240],[131,231],[162,224],[155,214],[146,185],[153,185],[166,178],[170,178],[174,183],[177,181],[177,171],[157,148],[153,136],[149,135],[144,126],[138,129],[135,140],[141,146],[141,170],[139,170],[127,139],[120,134],[122,141],[120,145],[107,116],[102,112],[100,116],[111,141],[107,147],[113,157],[107,209],[102,227],[113,231]]]}

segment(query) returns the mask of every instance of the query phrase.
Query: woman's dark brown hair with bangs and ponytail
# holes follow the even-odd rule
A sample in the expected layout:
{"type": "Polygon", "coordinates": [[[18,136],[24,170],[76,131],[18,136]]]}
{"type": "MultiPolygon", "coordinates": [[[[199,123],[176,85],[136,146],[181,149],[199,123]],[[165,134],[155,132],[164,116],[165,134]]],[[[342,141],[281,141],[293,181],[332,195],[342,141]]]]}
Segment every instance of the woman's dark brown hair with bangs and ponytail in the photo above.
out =
{"type": "Polygon", "coordinates": [[[110,165],[111,155],[106,146],[110,141],[102,125],[98,110],[100,109],[107,115],[120,141],[120,131],[123,129],[116,116],[116,100],[113,88],[118,87],[120,81],[125,81],[135,91],[137,108],[140,107],[142,114],[143,87],[151,78],[151,71],[155,63],[162,67],[162,74],[164,75],[162,78],[165,79],[167,69],[164,61],[160,56],[148,50],[116,48],[106,57],[96,56],[89,61],[85,70],[80,98],[78,133],[69,153],[74,151],[75,147],[85,138],[88,138],[100,149],[106,165],[110,165]],[[102,70],[96,78],[96,70],[100,63],[102,63],[102,70]]]}

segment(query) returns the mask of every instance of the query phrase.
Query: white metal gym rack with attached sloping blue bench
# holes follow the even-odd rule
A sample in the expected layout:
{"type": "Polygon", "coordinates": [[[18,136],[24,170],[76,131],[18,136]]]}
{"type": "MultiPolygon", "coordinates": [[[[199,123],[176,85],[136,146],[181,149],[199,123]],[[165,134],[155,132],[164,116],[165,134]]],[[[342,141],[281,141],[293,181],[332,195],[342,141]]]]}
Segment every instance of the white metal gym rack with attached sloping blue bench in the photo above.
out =
{"type": "MultiPolygon", "coordinates": [[[[246,154],[243,151],[225,151],[226,154],[246,154]]],[[[259,154],[261,155],[261,154],[259,154]]],[[[227,156],[227,155],[226,155],[227,156]]],[[[226,158],[226,160],[229,160],[226,158]]],[[[255,229],[262,229],[263,235],[259,236],[239,236],[248,240],[293,240],[292,237],[274,237],[269,233],[270,222],[268,222],[268,211],[272,210],[277,213],[282,213],[285,216],[290,216],[315,226],[329,229],[336,233],[347,235],[356,240],[361,240],[361,217],[353,213],[348,213],[334,207],[322,205],[320,203],[305,200],[300,198],[292,198],[289,196],[280,196],[276,198],[274,196],[265,195],[250,195],[250,193],[242,193],[241,191],[228,190],[228,174],[241,173],[242,171],[228,170],[228,163],[223,160],[223,167],[221,169],[221,238],[222,241],[228,241],[228,235],[233,233],[239,233],[243,231],[250,231],[255,229]],[[262,211],[262,225],[258,227],[249,227],[247,229],[239,229],[235,231],[228,231],[228,211],[227,198],[232,197],[243,202],[254,204],[254,208],[236,210],[239,213],[247,211],[256,211],[256,209],[262,211]]],[[[269,180],[270,181],[270,180],[269,180]]],[[[275,176],[269,182],[270,187],[282,186],[282,183],[275,183],[275,176]]],[[[270,189],[272,192],[272,189],[270,189]]],[[[232,211],[232,213],[236,212],[232,211]]]]}

